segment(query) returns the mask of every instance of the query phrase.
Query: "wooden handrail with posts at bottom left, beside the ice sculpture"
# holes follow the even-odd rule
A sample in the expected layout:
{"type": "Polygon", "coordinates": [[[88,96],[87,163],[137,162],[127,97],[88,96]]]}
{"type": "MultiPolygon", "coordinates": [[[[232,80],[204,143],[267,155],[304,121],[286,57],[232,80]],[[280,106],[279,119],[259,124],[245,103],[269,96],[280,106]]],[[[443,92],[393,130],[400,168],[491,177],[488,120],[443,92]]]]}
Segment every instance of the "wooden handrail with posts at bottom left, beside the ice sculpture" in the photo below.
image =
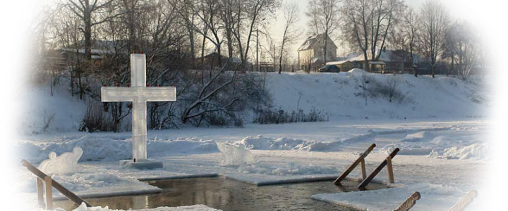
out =
{"type": "Polygon", "coordinates": [[[46,210],[52,210],[53,209],[53,193],[52,193],[52,187],[54,187],[57,191],[62,193],[63,196],[71,200],[76,205],[81,205],[81,203],[85,203],[87,207],[92,207],[89,203],[87,203],[85,200],[80,198],[79,196],[76,196],[73,192],[69,191],[67,188],[61,186],[58,182],[54,181],[51,177],[47,176],[42,172],[41,170],[37,169],[34,165],[32,165],[30,162],[26,161],[25,159],[21,160],[21,165],[26,167],[30,172],[35,174],[37,176],[37,201],[39,204],[44,203],[44,197],[43,197],[43,184],[44,184],[44,192],[46,193],[46,210]]]}

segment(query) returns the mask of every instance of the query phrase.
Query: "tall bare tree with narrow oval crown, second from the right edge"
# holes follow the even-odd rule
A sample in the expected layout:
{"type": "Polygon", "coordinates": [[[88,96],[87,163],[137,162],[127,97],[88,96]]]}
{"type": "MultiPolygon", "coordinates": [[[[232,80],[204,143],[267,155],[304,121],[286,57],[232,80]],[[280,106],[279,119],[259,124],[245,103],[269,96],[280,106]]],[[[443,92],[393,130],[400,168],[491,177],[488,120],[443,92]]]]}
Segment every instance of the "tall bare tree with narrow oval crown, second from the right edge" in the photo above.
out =
{"type": "Polygon", "coordinates": [[[435,67],[444,51],[449,14],[439,1],[427,0],[418,17],[418,50],[430,60],[430,72],[435,77],[435,67]]]}

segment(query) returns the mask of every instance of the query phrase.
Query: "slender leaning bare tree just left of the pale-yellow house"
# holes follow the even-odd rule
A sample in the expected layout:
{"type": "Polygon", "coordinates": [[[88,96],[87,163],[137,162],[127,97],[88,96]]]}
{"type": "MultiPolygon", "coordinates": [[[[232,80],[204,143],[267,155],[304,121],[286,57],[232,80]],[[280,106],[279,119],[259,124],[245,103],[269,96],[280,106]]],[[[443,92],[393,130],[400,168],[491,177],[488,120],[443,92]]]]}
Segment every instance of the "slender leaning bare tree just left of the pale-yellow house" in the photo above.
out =
{"type": "Polygon", "coordinates": [[[298,5],[293,4],[286,4],[284,5],[284,20],[286,20],[286,23],[284,25],[284,34],[282,35],[282,45],[280,50],[280,57],[279,57],[279,74],[282,72],[282,57],[284,55],[284,45],[291,44],[294,39],[298,36],[296,32],[298,30],[294,29],[294,25],[296,21],[298,21],[298,5]]]}

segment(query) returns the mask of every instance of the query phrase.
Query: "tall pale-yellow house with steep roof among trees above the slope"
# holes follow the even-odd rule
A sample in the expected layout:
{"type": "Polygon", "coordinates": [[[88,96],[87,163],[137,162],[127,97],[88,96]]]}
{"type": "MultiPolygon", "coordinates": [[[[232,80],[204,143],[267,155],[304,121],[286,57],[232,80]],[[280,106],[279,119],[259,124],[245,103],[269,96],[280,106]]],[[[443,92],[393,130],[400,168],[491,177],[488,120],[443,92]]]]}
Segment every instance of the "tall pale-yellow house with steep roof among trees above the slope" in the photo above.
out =
{"type": "Polygon", "coordinates": [[[298,66],[303,70],[316,70],[327,61],[335,60],[337,57],[337,46],[332,39],[326,36],[327,46],[325,48],[325,34],[310,36],[298,48],[298,66]],[[326,49],[326,58],[325,58],[326,49]]]}

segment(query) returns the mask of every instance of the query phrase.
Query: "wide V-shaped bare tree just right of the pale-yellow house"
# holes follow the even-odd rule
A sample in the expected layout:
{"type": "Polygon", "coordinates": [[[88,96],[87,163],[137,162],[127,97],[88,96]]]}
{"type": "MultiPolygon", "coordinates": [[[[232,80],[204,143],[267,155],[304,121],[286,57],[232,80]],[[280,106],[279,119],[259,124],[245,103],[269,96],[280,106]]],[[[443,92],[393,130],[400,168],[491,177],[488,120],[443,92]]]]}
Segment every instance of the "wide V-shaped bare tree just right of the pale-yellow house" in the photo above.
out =
{"type": "Polygon", "coordinates": [[[380,58],[378,49],[385,47],[388,32],[403,6],[400,0],[344,1],[342,32],[346,41],[363,52],[365,68],[370,72],[373,70],[368,62],[380,58]]]}

